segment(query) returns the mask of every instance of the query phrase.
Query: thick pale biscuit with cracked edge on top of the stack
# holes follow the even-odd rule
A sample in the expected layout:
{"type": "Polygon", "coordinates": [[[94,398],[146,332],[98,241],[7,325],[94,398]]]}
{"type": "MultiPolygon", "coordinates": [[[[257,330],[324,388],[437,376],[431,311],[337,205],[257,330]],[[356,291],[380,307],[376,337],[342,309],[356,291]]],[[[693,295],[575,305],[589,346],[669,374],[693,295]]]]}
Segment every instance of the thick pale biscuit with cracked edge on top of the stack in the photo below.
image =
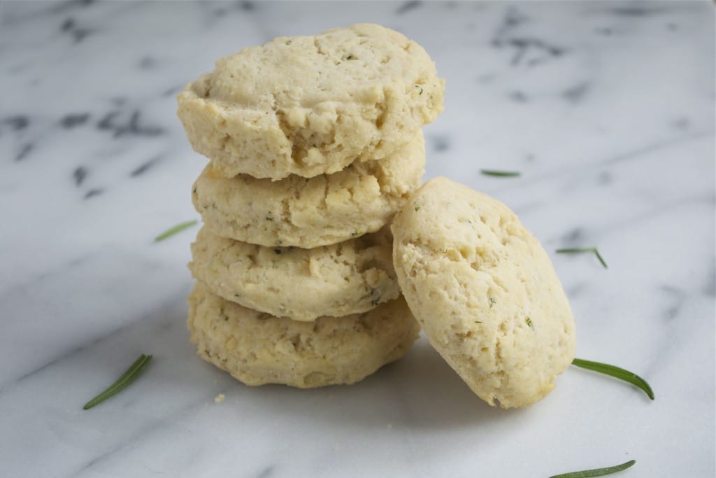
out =
{"type": "Polygon", "coordinates": [[[443,90],[419,44],[356,24],[223,57],[178,95],[177,113],[223,176],[313,177],[390,155],[435,120],[443,90]]]}

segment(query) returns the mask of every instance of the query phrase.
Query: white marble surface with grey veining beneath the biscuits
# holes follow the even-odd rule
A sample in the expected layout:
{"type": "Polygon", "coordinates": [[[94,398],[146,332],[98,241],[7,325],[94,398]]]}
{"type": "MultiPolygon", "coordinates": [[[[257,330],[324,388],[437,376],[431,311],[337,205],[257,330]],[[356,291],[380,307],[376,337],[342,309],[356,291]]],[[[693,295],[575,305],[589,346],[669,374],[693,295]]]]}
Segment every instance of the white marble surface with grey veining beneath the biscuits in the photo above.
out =
{"type": "Polygon", "coordinates": [[[0,464],[6,477],[713,477],[714,12],[638,3],[0,4],[0,464]],[[425,338],[355,386],[248,388],[185,329],[203,158],[175,117],[213,60],[358,21],[447,81],[426,178],[511,206],[550,252],[577,356],[546,400],[493,409],[425,338]],[[480,168],[521,171],[480,176],[480,168]],[[598,245],[594,257],[554,254],[598,245]],[[140,380],[82,404],[140,353],[140,380]],[[223,403],[214,403],[219,393],[223,403]]]}

